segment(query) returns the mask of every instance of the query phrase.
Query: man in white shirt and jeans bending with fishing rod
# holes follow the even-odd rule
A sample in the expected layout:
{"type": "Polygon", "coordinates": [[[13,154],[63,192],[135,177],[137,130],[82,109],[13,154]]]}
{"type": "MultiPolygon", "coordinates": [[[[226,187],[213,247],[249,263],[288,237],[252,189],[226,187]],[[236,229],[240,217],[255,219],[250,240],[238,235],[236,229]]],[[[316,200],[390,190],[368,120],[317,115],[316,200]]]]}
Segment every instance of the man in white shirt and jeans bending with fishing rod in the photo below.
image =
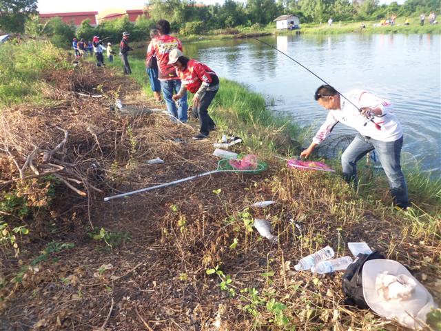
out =
{"type": "Polygon", "coordinates": [[[347,99],[341,97],[332,86],[322,85],[317,89],[314,99],[329,112],[325,123],[320,126],[312,139],[311,145],[300,154],[300,157],[309,157],[334,126],[341,122],[358,131],[342,154],[345,179],[357,183],[357,162],[367,152],[376,150],[389,179],[394,202],[400,208],[407,208],[409,205],[407,184],[400,165],[402,129],[391,110],[391,103],[362,90],[352,90],[343,95],[360,108],[361,112],[347,99]],[[369,118],[373,121],[369,121],[369,118]]]}

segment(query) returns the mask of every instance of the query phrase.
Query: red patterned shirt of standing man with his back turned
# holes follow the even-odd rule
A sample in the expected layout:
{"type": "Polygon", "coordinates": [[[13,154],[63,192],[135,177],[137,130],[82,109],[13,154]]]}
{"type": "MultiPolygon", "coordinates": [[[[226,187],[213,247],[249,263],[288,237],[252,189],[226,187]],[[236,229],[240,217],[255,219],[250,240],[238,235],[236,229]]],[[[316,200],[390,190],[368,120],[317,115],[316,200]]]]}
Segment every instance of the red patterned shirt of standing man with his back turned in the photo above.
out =
{"type": "Polygon", "coordinates": [[[160,81],[178,79],[174,66],[168,64],[168,54],[175,48],[182,50],[182,43],[179,39],[170,36],[169,34],[163,34],[152,39],[149,45],[147,50],[147,61],[153,56],[156,56],[156,59],[158,60],[158,79],[160,81]]]}

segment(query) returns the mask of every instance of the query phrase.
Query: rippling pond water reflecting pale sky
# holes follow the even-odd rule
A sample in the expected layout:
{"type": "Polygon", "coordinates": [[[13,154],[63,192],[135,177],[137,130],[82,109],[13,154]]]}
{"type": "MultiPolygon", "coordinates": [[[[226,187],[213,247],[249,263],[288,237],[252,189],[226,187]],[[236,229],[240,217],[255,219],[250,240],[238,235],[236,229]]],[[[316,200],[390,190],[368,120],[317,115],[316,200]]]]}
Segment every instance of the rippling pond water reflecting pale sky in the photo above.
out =
{"type": "MultiPolygon", "coordinates": [[[[391,101],[404,130],[407,159],[411,155],[420,169],[440,176],[440,34],[293,34],[259,39],[289,54],[340,92],[360,88],[391,101]]],[[[245,83],[274,99],[274,112],[311,128],[308,138],[325,121],[327,111],[313,97],[322,82],[263,43],[254,39],[186,43],[184,52],[220,77],[245,83]]],[[[338,124],[335,132],[353,130],[338,124]]]]}

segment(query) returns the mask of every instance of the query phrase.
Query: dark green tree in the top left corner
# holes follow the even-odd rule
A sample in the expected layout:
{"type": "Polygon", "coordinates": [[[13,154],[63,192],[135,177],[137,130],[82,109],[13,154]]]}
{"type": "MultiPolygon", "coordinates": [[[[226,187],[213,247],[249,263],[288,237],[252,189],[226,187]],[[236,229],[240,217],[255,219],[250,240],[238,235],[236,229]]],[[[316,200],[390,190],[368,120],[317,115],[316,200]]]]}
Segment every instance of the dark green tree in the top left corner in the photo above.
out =
{"type": "Polygon", "coordinates": [[[0,0],[0,30],[23,32],[25,20],[37,12],[37,0],[0,0]]]}

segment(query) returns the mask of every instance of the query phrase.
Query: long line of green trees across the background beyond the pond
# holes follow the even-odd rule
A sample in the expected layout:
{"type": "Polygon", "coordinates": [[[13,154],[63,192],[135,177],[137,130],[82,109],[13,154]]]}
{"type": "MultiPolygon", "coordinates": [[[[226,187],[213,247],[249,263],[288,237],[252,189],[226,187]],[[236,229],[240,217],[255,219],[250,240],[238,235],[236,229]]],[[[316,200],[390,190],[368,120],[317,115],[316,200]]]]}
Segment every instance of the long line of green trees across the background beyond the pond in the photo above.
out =
{"type": "Polygon", "coordinates": [[[128,31],[132,41],[148,38],[158,19],[167,19],[179,34],[231,32],[232,29],[258,30],[283,14],[296,14],[300,23],[334,21],[365,21],[439,11],[439,0],[407,0],[402,5],[392,2],[380,5],[378,0],[247,0],[245,3],[225,0],[222,4],[203,6],[191,0],[151,0],[147,4],[150,17],[139,17],[131,23],[127,17],[90,26],[85,20],[78,29],[55,18],[40,21],[37,0],[0,0],[0,31],[25,32],[46,36],[57,46],[67,47],[74,36],[90,40],[94,35],[119,40],[128,31]],[[224,31],[223,31],[224,30],[224,31]]]}

